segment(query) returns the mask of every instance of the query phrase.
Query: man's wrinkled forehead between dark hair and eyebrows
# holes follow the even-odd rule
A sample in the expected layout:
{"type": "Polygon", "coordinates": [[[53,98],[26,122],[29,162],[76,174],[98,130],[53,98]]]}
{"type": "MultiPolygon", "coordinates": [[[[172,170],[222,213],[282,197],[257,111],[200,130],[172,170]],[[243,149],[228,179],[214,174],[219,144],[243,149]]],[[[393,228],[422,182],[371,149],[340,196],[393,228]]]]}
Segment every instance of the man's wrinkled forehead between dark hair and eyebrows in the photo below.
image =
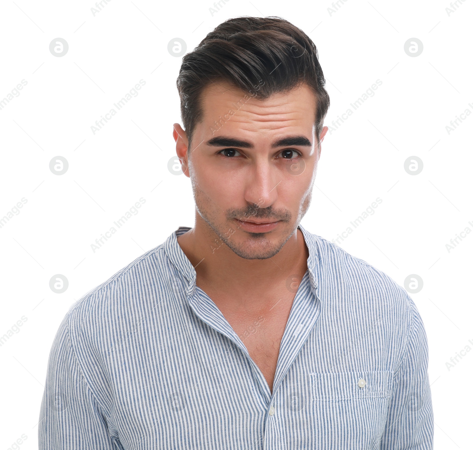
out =
{"type": "Polygon", "coordinates": [[[202,122],[206,129],[217,121],[221,130],[279,130],[292,132],[315,127],[316,96],[305,84],[285,93],[258,98],[258,86],[245,92],[226,82],[210,83],[201,93],[202,122]]]}

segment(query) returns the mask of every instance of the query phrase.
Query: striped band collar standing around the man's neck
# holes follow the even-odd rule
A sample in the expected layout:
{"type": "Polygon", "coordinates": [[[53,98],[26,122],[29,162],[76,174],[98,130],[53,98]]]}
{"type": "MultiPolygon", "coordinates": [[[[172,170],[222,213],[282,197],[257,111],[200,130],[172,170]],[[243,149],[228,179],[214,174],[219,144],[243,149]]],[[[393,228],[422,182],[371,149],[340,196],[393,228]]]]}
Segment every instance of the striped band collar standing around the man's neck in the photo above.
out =
{"type": "MultiPolygon", "coordinates": [[[[307,249],[309,250],[309,257],[307,258],[307,270],[309,272],[311,290],[320,300],[322,300],[323,286],[321,286],[321,280],[325,276],[325,265],[323,264],[323,257],[326,251],[326,245],[323,242],[325,240],[316,234],[308,232],[300,224],[298,228],[302,232],[307,249]]],[[[173,233],[171,233],[163,243],[163,248],[167,257],[189,283],[187,295],[192,295],[195,291],[195,281],[197,274],[191,261],[189,261],[187,256],[185,256],[185,253],[181,249],[179,242],[177,242],[177,237],[186,233],[190,229],[190,226],[180,226],[177,230],[173,231],[173,233]]]]}

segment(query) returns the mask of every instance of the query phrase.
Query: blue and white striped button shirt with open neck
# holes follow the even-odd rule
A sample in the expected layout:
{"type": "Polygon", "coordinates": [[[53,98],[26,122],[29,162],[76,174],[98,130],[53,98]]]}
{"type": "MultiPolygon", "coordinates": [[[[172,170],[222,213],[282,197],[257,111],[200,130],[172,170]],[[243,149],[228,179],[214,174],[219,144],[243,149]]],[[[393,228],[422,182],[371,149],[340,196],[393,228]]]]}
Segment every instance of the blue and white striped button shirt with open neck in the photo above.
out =
{"type": "Polygon", "coordinates": [[[273,392],[177,242],[74,303],[54,339],[40,450],[432,449],[427,338],[384,272],[309,249],[273,392]]]}

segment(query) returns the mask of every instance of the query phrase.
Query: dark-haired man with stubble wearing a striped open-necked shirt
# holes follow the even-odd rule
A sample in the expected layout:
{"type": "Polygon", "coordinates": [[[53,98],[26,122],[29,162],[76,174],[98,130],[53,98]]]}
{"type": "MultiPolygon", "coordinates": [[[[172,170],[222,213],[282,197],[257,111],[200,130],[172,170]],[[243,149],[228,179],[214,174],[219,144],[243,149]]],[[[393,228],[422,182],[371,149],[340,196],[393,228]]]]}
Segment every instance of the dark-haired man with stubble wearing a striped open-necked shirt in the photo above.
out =
{"type": "Polygon", "coordinates": [[[431,449],[415,304],[299,225],[329,107],[314,43],[280,18],[231,19],[177,87],[194,227],[71,307],[40,449],[431,449]]]}

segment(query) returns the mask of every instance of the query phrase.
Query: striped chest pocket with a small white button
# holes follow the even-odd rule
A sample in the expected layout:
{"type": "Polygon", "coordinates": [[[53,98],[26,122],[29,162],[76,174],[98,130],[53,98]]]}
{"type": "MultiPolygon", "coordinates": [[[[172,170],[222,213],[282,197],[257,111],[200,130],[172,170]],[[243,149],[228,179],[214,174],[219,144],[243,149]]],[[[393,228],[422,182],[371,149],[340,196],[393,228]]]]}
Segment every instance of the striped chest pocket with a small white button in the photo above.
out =
{"type": "Polygon", "coordinates": [[[321,450],[375,450],[385,429],[393,372],[310,373],[321,450]]]}

